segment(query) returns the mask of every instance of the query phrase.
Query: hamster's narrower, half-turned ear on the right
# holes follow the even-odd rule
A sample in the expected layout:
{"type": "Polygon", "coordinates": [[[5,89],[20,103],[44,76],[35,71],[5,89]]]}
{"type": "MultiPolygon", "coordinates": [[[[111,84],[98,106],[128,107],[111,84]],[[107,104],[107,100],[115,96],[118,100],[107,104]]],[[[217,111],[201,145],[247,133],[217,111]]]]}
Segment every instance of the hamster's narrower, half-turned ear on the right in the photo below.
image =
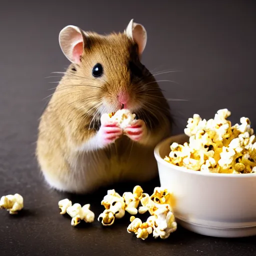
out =
{"type": "Polygon", "coordinates": [[[137,43],[138,53],[142,54],[147,40],[147,34],[144,26],[133,22],[133,19],[131,19],[124,32],[137,43]]]}

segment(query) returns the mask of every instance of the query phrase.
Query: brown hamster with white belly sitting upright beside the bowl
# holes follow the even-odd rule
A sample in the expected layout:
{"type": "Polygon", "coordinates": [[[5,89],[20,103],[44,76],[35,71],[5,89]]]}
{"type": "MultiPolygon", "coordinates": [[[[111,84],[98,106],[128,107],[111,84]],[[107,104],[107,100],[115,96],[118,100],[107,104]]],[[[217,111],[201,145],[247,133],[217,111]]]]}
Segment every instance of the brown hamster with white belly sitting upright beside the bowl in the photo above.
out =
{"type": "Polygon", "coordinates": [[[130,20],[118,33],[100,35],[73,25],[59,32],[70,61],[39,125],[36,158],[56,190],[87,193],[119,181],[157,176],[153,150],[171,132],[167,100],[141,63],[143,25],[130,20]],[[126,108],[133,125],[121,129],[101,115],[126,108]]]}

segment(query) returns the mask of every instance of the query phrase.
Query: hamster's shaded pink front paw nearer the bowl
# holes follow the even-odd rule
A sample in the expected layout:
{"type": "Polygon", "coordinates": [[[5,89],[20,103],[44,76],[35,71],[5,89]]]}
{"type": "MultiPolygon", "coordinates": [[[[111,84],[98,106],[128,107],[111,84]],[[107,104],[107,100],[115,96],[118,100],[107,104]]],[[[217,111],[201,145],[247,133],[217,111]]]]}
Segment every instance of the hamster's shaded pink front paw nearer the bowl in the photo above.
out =
{"type": "Polygon", "coordinates": [[[143,120],[135,120],[132,125],[125,127],[124,133],[134,141],[141,141],[147,135],[146,124],[143,120]]]}

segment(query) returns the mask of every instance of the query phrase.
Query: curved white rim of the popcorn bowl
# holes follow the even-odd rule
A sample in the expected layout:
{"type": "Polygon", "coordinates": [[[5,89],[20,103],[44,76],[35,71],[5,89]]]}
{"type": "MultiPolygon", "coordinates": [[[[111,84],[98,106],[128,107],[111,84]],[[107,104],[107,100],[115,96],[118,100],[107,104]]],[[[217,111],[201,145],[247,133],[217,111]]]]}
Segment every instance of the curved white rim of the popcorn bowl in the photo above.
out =
{"type": "MultiPolygon", "coordinates": [[[[172,140],[172,138],[178,137],[178,136],[184,136],[184,133],[180,133],[177,135],[172,135],[169,136],[162,141],[160,141],[154,148],[154,157],[157,162],[165,165],[167,168],[173,168],[177,171],[185,172],[185,173],[190,173],[192,175],[201,175],[201,176],[213,176],[213,177],[230,177],[230,178],[251,178],[251,177],[256,177],[256,173],[243,173],[243,174],[235,174],[235,173],[215,173],[215,172],[201,172],[201,171],[196,171],[192,169],[187,169],[182,166],[176,166],[172,163],[169,163],[165,161],[159,154],[160,148],[166,144],[167,141],[172,140]]],[[[159,171],[159,170],[158,170],[159,171]]]]}

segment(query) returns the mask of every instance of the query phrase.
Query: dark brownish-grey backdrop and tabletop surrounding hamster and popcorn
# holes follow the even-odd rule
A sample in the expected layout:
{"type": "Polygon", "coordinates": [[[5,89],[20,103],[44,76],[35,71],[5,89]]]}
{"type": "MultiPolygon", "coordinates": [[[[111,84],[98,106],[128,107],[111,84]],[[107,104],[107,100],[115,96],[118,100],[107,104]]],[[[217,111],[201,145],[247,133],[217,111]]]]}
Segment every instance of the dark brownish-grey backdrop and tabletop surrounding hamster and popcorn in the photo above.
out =
{"type": "MultiPolygon", "coordinates": [[[[143,63],[170,101],[182,132],[193,113],[213,117],[220,108],[230,120],[251,119],[255,128],[255,1],[1,1],[0,3],[0,195],[20,193],[24,210],[0,212],[1,255],[256,255],[255,237],[206,237],[178,227],[167,240],[141,241],[128,234],[128,214],[110,227],[96,220],[107,188],[74,196],[49,190],[34,157],[38,118],[68,60],[58,33],[68,24],[99,33],[121,31],[131,18],[148,35],[143,63]],[[54,75],[54,74],[53,74],[54,75]],[[95,222],[73,228],[58,212],[58,200],[90,203],[95,222]]],[[[133,184],[114,188],[122,193],[133,184]]],[[[152,192],[154,183],[141,184],[152,192]]],[[[113,188],[113,187],[110,187],[113,188]]],[[[202,191],[203,192],[203,191],[202,191]]],[[[245,195],[249,196],[249,195],[245,195]]],[[[234,196],[235,199],[235,196],[234,196]]]]}

